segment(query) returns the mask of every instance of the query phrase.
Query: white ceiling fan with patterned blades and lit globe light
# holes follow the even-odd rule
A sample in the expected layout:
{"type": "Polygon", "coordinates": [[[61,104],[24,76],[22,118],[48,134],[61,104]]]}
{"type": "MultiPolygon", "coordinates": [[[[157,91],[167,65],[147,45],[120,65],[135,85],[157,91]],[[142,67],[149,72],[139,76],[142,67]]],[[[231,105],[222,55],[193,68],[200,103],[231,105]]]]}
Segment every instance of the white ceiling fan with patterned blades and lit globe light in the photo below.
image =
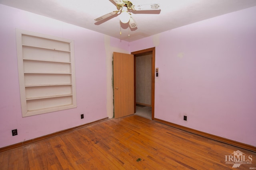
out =
{"type": "Polygon", "coordinates": [[[157,3],[154,4],[142,4],[142,5],[133,5],[132,2],[128,0],[114,0],[116,2],[117,11],[110,12],[108,14],[105,14],[104,16],[100,16],[94,21],[98,22],[101,20],[104,20],[114,14],[118,14],[120,16],[120,21],[122,23],[128,23],[131,28],[137,27],[137,24],[132,17],[132,14],[128,11],[135,10],[135,11],[142,11],[142,10],[160,10],[160,5],[157,3]]]}

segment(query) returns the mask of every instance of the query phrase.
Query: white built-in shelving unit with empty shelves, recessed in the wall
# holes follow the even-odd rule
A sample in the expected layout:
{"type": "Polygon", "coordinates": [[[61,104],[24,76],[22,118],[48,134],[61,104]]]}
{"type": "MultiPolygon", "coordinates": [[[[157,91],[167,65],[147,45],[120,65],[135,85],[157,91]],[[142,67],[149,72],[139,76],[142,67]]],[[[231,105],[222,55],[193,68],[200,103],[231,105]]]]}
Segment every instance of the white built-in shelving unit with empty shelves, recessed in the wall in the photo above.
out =
{"type": "Polygon", "coordinates": [[[22,115],[76,107],[73,41],[17,29],[22,115]]]}

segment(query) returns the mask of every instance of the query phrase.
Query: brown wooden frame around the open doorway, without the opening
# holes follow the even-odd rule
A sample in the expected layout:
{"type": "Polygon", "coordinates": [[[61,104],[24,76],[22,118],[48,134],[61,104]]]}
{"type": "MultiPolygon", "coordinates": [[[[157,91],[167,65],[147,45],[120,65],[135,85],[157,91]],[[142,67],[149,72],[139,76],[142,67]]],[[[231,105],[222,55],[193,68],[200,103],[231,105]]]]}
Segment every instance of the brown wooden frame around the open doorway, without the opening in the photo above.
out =
{"type": "Polygon", "coordinates": [[[131,54],[134,55],[134,113],[136,112],[136,55],[152,53],[152,65],[151,65],[151,107],[152,107],[152,120],[155,118],[155,51],[156,47],[144,49],[140,51],[134,51],[131,54]]]}

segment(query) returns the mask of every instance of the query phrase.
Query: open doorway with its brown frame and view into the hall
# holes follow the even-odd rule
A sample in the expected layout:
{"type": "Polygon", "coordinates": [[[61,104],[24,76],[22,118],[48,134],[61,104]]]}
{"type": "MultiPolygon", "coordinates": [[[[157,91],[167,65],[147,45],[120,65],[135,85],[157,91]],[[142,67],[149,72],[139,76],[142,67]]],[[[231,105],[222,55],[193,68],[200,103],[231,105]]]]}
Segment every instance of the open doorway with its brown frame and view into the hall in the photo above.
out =
{"type": "Polygon", "coordinates": [[[134,113],[154,120],[155,47],[131,54],[134,55],[134,113]]]}

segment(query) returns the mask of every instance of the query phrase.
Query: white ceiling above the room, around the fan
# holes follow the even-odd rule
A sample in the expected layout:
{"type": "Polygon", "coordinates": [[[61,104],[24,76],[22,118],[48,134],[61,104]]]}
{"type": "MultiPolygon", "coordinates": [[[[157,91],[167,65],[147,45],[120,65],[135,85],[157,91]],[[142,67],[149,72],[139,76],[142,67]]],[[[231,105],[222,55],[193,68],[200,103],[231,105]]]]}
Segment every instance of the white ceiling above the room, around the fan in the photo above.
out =
{"type": "Polygon", "coordinates": [[[116,11],[113,0],[0,0],[0,4],[26,10],[91,29],[124,41],[135,41],[150,35],[256,6],[256,0],[130,0],[132,4],[159,3],[161,10],[133,11],[137,28],[130,30],[116,15],[95,22],[94,19],[116,11]],[[130,33],[130,38],[128,38],[130,33]]]}

